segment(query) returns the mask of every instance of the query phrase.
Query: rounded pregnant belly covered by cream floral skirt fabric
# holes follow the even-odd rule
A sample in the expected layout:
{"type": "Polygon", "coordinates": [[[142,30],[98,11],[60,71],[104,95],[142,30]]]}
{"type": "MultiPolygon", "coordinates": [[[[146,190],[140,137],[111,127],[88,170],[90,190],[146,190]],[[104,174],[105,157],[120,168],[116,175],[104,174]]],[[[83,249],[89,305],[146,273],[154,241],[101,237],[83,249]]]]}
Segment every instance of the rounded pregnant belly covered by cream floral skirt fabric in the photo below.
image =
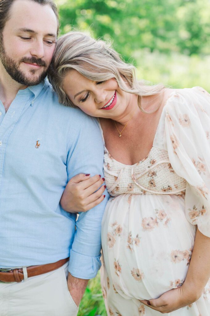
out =
{"type": "Polygon", "coordinates": [[[187,274],[196,227],[184,197],[129,195],[112,198],[102,222],[105,267],[124,297],[150,299],[180,286],[187,274]]]}

